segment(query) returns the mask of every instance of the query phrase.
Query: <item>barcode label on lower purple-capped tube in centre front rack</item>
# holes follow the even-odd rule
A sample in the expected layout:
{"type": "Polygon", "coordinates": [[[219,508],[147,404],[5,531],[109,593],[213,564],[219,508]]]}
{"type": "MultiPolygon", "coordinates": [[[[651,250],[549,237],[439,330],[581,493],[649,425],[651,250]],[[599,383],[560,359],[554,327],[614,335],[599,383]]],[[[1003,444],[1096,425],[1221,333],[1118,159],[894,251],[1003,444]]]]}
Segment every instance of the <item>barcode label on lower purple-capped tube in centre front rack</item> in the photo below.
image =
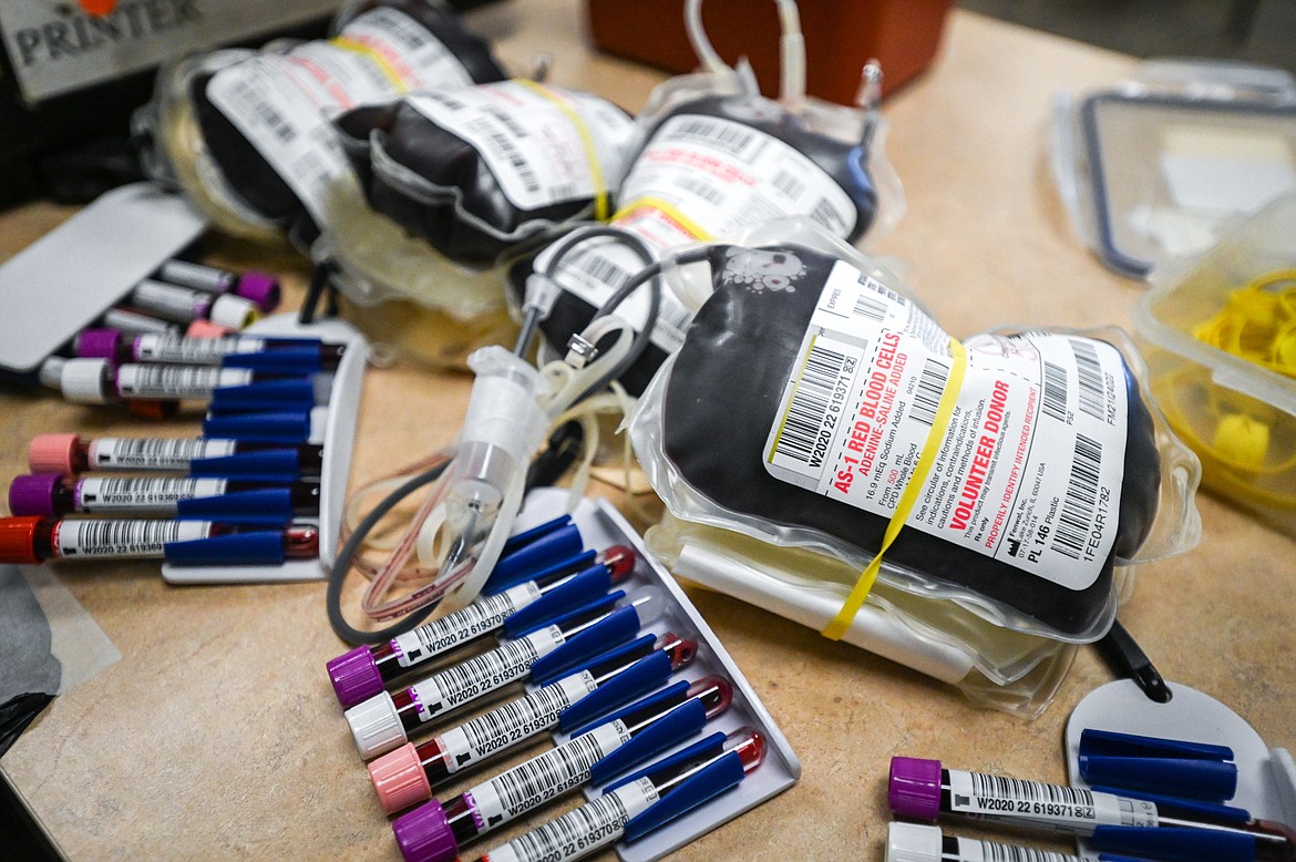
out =
{"type": "Polygon", "coordinates": [[[608,722],[472,788],[464,796],[478,831],[492,830],[579,787],[595,763],[630,739],[625,722],[608,722]]]}

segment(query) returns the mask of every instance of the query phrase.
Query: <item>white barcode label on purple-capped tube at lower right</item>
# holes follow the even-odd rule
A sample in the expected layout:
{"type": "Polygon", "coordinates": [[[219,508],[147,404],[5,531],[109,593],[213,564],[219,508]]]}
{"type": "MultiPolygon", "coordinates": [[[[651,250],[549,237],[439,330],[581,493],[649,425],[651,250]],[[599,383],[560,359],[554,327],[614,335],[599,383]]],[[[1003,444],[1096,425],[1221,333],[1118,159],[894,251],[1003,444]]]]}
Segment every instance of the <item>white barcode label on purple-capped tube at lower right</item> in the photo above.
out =
{"type": "Polygon", "coordinates": [[[1098,826],[1157,824],[1155,802],[984,773],[953,769],[947,773],[953,814],[1006,823],[1029,822],[1063,835],[1091,835],[1098,826]]]}

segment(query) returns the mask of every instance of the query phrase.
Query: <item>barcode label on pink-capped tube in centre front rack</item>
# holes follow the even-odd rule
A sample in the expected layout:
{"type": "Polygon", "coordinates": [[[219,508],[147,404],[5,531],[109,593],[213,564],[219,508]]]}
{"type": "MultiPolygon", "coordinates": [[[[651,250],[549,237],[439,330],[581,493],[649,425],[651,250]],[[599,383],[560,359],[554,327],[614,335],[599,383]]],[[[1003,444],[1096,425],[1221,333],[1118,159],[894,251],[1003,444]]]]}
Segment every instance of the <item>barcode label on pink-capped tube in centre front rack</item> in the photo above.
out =
{"type": "Polygon", "coordinates": [[[439,740],[446,769],[457,773],[553,727],[564,709],[597,687],[594,675],[583,670],[446,731],[439,740]]]}

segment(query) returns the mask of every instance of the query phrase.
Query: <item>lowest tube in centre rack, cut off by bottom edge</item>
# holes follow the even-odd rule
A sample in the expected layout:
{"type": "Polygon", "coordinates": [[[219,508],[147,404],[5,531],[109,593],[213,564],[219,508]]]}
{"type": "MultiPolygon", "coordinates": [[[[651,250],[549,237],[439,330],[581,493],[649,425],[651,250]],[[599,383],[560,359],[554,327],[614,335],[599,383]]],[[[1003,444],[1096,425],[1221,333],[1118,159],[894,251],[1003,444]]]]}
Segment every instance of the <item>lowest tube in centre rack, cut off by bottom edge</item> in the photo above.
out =
{"type": "MultiPolygon", "coordinates": [[[[765,736],[756,727],[740,727],[728,736],[713,734],[617,782],[581,808],[495,848],[477,862],[569,862],[622,836],[632,841],[736,787],[765,762],[766,748],[765,736]]],[[[986,856],[981,862],[999,858],[986,856]]]]}

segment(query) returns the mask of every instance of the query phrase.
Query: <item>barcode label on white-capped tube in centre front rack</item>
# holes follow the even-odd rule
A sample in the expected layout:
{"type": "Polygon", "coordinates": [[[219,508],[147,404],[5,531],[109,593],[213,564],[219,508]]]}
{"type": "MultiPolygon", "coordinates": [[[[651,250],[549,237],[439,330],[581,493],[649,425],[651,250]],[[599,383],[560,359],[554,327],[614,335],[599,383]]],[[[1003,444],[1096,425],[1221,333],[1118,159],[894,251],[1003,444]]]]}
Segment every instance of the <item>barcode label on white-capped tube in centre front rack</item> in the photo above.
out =
{"type": "Polygon", "coordinates": [[[460,704],[521,679],[531,665],[561,647],[565,640],[561,629],[550,626],[411,686],[410,693],[413,695],[419,721],[432,721],[460,704]]]}

